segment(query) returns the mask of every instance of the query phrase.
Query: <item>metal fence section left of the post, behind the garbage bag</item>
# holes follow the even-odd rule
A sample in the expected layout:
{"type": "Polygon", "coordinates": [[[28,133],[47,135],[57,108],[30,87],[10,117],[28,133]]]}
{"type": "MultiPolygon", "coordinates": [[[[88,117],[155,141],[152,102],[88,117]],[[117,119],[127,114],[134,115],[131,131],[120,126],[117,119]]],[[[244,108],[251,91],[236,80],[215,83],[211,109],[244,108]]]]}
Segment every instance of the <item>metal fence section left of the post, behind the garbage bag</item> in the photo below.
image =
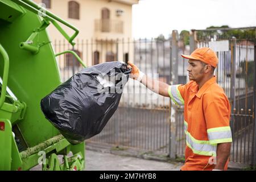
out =
{"type": "MultiPolygon", "coordinates": [[[[55,52],[75,50],[86,65],[103,63],[104,60],[130,60],[146,75],[170,82],[170,40],[119,39],[106,42],[92,39],[78,41],[75,47],[67,47],[68,43],[64,41],[54,44],[55,52]]],[[[63,81],[82,69],[81,65],[75,64],[76,59],[68,54],[60,56],[58,63],[63,81]]],[[[130,79],[113,117],[100,134],[89,140],[168,155],[169,119],[170,98],[153,93],[130,79]]]]}

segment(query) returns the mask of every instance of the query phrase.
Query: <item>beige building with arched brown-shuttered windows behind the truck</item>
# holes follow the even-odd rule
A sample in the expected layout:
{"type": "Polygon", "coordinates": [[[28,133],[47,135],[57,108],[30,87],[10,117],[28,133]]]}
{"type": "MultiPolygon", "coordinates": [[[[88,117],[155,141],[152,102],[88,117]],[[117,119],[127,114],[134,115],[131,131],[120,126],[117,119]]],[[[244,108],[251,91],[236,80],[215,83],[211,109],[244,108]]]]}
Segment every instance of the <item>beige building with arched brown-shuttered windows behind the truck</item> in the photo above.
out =
{"type": "MultiPolygon", "coordinates": [[[[34,0],[80,30],[74,50],[87,65],[133,57],[132,6],[139,0],[34,0]],[[117,46],[117,42],[122,46],[117,46]],[[129,46],[128,46],[129,45],[129,46]]],[[[68,35],[73,30],[62,26],[68,35]]],[[[54,26],[48,27],[55,52],[72,49],[54,26]]],[[[61,67],[71,66],[71,55],[60,56],[61,67]],[[64,61],[63,61],[64,59],[64,61]]]]}

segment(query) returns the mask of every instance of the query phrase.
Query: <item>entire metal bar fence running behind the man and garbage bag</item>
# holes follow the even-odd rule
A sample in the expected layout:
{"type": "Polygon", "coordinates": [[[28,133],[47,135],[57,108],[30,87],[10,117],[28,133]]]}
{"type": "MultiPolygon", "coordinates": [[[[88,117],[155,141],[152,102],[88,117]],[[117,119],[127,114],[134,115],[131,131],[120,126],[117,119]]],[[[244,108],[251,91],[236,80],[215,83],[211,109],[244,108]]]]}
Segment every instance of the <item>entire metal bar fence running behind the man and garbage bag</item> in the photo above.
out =
{"type": "MultiPolygon", "coordinates": [[[[194,32],[195,33],[195,32],[194,32]]],[[[176,36],[176,34],[175,34],[176,36]]],[[[209,46],[211,39],[197,40],[191,35],[190,47],[174,39],[117,39],[77,40],[75,47],[55,41],[55,52],[74,50],[88,66],[113,60],[130,60],[156,79],[173,82],[171,73],[176,69],[176,82],[187,82],[187,61],[177,56],[174,67],[174,53],[189,54],[195,47],[209,46]],[[175,50],[175,51],[174,51],[175,50]],[[172,71],[172,72],[171,72],[172,71]]],[[[216,69],[218,84],[224,89],[232,104],[233,143],[230,160],[243,164],[255,164],[255,44],[249,39],[229,40],[228,51],[217,51],[219,64],[216,69]]],[[[217,39],[218,40],[218,39],[217,39]]],[[[58,64],[63,81],[82,69],[71,55],[59,57],[58,64]]],[[[104,130],[88,141],[134,147],[141,150],[184,156],[185,135],[183,107],[171,107],[170,98],[159,96],[137,81],[129,80],[123,90],[117,111],[104,130]],[[175,125],[171,119],[176,112],[175,125]],[[174,129],[174,130],[172,130],[174,129]],[[171,133],[172,131],[172,133],[171,133]],[[172,135],[174,134],[174,136],[172,135]]],[[[173,156],[173,155],[172,155],[173,156]]]]}

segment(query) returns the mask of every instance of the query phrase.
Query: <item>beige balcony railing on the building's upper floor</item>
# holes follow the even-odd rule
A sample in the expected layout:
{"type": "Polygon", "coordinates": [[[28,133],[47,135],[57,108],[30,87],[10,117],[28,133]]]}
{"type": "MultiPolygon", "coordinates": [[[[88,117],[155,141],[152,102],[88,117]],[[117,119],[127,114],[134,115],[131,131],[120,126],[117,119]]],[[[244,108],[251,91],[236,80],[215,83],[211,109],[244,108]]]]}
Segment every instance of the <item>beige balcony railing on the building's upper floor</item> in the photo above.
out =
{"type": "Polygon", "coordinates": [[[110,33],[123,33],[123,21],[112,19],[96,19],[95,20],[96,32],[110,32],[110,33]]]}

